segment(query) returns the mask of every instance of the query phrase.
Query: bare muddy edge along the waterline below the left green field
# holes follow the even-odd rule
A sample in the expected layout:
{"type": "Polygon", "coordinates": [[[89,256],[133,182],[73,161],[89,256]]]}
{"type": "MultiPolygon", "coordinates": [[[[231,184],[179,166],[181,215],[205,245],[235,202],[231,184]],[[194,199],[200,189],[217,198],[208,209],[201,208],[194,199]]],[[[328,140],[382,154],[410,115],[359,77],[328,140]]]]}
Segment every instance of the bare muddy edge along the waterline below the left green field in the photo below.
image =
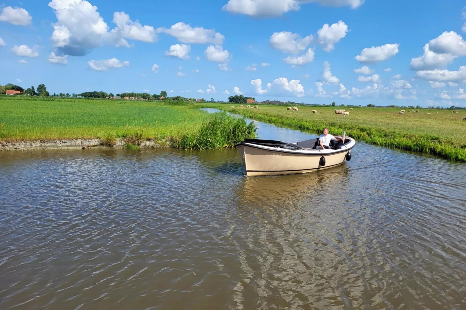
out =
{"type": "MultiPolygon", "coordinates": [[[[77,148],[124,148],[123,139],[117,139],[117,144],[108,147],[102,144],[100,139],[61,139],[61,140],[36,140],[20,142],[0,142],[0,151],[27,151],[35,149],[77,149],[77,148]]],[[[169,141],[163,144],[153,140],[142,141],[140,148],[170,148],[169,141]]]]}

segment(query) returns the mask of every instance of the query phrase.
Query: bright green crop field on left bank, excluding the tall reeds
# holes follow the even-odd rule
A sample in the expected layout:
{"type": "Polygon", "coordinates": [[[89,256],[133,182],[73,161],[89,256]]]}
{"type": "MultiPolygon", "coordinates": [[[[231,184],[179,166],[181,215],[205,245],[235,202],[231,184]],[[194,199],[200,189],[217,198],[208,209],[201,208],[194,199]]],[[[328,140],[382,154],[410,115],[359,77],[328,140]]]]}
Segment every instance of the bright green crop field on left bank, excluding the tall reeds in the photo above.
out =
{"type": "Polygon", "coordinates": [[[145,136],[166,138],[193,132],[210,117],[205,111],[162,101],[0,96],[0,123],[5,124],[0,140],[96,138],[113,131],[121,137],[146,123],[145,136]]]}

